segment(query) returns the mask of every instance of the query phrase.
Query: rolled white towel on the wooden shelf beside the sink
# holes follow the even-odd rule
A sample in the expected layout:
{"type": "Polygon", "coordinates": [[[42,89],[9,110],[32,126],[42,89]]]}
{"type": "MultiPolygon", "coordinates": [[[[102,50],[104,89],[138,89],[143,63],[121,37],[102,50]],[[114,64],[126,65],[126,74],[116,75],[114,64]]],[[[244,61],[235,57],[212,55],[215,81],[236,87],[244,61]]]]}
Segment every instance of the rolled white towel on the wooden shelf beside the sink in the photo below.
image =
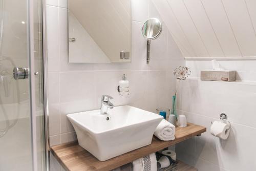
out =
{"type": "Polygon", "coordinates": [[[156,128],[154,135],[163,141],[175,139],[175,126],[163,119],[156,128]]]}

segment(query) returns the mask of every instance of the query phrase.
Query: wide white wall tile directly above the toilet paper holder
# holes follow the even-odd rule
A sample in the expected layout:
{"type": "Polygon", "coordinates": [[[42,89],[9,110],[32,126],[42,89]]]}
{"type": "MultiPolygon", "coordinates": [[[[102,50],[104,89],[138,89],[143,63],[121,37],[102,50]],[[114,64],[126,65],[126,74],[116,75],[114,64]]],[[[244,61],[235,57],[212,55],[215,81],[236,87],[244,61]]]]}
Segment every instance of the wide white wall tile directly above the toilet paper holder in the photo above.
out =
{"type": "Polygon", "coordinates": [[[227,113],[230,121],[255,126],[252,121],[256,119],[253,115],[255,91],[255,84],[189,79],[180,84],[179,95],[182,103],[178,106],[183,111],[214,118],[218,118],[220,113],[227,113]],[[215,102],[212,102],[214,100],[215,102]],[[246,114],[250,119],[242,119],[241,113],[246,114]]]}

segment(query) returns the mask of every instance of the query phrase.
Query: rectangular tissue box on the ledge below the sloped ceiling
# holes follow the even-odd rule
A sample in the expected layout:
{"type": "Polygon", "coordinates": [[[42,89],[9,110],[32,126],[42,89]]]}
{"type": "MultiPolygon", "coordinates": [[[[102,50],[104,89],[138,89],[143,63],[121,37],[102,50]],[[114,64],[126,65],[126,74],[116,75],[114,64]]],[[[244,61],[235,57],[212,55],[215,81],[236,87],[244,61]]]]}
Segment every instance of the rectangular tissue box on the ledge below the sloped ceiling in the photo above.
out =
{"type": "Polygon", "coordinates": [[[202,70],[201,80],[210,81],[236,81],[236,71],[202,70]]]}

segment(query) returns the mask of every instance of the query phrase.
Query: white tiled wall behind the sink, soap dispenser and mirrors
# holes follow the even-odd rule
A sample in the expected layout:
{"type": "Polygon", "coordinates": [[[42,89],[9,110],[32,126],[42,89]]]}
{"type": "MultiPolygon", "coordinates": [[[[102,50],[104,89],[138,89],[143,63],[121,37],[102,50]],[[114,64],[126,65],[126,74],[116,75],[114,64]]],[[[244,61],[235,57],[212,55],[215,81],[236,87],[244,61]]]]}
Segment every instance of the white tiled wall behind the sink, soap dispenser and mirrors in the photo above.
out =
{"type": "MultiPolygon", "coordinates": [[[[51,145],[75,140],[66,115],[100,108],[103,94],[113,96],[115,105],[130,104],[152,112],[171,107],[176,85],[173,70],[184,65],[184,59],[164,25],[161,36],[152,41],[151,62],[146,64],[141,27],[147,18],[159,17],[150,0],[132,1],[132,63],[69,63],[67,1],[49,0],[47,13],[51,145]],[[127,97],[116,91],[123,73],[130,80],[127,97]]],[[[56,160],[51,160],[53,170],[59,170],[56,160]]]]}

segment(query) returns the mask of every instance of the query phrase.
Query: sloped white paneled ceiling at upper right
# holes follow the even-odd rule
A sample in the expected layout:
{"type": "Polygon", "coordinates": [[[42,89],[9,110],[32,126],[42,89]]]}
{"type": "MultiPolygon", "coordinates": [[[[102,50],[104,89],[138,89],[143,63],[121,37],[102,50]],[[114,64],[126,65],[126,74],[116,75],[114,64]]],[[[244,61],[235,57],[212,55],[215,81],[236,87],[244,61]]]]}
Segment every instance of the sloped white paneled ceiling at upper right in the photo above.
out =
{"type": "Polygon", "coordinates": [[[152,1],[185,58],[256,57],[256,0],[152,1]]]}

